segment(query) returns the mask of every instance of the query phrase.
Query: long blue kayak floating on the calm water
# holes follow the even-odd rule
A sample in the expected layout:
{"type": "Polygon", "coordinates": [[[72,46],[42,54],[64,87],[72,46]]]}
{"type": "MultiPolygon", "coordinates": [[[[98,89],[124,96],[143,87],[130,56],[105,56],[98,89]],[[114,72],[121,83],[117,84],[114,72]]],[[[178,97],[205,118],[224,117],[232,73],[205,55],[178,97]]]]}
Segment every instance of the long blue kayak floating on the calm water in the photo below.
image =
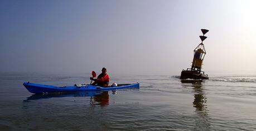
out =
{"type": "Polygon", "coordinates": [[[36,84],[30,82],[24,82],[23,85],[31,93],[54,93],[54,92],[79,92],[79,91],[104,91],[115,89],[127,89],[127,88],[139,88],[139,83],[133,84],[118,84],[117,87],[99,87],[91,84],[75,84],[65,87],[57,87],[54,85],[36,84]]]}

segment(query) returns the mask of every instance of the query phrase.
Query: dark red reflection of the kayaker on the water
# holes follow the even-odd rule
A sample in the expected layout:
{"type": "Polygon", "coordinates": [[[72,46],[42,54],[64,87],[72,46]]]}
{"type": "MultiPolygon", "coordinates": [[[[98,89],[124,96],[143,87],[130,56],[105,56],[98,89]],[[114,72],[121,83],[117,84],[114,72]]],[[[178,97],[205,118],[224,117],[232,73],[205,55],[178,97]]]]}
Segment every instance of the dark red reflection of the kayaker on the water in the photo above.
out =
{"type": "Polygon", "coordinates": [[[108,92],[102,92],[102,94],[95,95],[93,100],[91,100],[91,104],[100,105],[102,107],[109,105],[109,94],[108,92]]]}

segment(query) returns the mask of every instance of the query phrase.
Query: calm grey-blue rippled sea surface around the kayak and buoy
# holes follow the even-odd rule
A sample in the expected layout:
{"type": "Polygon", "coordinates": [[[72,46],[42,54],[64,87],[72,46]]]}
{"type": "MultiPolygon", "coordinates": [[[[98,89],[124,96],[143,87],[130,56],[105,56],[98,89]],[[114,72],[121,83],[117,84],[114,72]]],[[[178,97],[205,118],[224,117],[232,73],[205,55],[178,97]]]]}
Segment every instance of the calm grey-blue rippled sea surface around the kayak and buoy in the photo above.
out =
{"type": "Polygon", "coordinates": [[[139,89],[33,95],[23,82],[90,83],[90,74],[0,73],[0,130],[256,130],[256,75],[110,75],[139,89]]]}

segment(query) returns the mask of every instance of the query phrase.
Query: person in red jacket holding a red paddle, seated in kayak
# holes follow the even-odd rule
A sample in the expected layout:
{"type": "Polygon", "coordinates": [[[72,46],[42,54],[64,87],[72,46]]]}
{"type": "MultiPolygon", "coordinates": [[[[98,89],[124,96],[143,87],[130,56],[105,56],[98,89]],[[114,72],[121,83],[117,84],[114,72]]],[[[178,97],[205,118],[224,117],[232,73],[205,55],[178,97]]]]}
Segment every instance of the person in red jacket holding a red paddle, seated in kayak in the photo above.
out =
{"type": "Polygon", "coordinates": [[[90,80],[94,80],[92,85],[99,85],[100,87],[108,87],[109,84],[109,75],[107,74],[107,69],[105,67],[102,68],[102,73],[99,74],[97,79],[93,79],[90,77],[90,80]]]}

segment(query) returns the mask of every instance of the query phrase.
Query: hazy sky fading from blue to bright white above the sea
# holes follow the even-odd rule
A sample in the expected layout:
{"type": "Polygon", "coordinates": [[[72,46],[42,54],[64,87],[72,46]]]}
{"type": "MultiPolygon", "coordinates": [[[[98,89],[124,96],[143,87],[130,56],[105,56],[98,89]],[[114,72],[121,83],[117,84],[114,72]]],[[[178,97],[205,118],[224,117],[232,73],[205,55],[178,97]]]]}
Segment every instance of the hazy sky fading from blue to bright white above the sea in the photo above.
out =
{"type": "Polygon", "coordinates": [[[256,70],[256,1],[0,1],[0,72],[256,70]]]}

